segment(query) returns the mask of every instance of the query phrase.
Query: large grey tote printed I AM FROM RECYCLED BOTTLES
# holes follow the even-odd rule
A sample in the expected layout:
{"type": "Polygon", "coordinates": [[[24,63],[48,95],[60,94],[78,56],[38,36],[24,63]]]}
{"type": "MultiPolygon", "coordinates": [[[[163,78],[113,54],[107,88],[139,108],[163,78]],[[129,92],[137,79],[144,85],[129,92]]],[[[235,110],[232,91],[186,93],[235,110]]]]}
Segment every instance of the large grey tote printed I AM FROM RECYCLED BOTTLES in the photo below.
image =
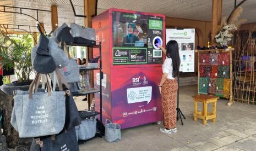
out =
{"type": "Polygon", "coordinates": [[[55,135],[64,127],[66,109],[64,91],[51,92],[47,80],[48,92],[37,91],[40,74],[36,74],[29,91],[17,91],[14,96],[14,107],[11,124],[19,132],[19,137],[39,137],[55,135]]]}

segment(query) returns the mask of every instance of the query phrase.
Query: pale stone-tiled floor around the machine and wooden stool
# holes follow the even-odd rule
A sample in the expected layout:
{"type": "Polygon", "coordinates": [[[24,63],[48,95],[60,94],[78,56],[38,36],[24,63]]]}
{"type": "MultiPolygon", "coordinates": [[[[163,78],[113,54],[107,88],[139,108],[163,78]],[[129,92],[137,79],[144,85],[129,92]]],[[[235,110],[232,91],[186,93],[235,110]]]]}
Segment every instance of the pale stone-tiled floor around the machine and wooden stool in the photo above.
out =
{"type": "MultiPolygon", "coordinates": [[[[177,133],[159,131],[155,123],[122,130],[122,140],[108,143],[94,138],[80,144],[80,150],[256,150],[256,106],[227,100],[217,102],[217,120],[207,125],[193,121],[193,98],[197,86],[181,86],[180,108],[186,117],[177,121],[177,133]]],[[[81,102],[79,102],[81,103],[81,102]]],[[[85,103],[85,102],[84,102],[85,103]]],[[[201,106],[199,106],[201,107],[201,106]]]]}

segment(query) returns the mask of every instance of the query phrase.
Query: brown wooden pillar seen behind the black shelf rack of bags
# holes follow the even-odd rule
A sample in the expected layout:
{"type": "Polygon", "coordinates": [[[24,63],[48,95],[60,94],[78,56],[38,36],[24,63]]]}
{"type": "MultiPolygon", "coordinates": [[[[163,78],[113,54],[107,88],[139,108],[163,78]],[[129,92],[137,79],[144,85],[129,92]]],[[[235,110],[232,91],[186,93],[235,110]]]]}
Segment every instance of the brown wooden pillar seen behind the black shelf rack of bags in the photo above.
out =
{"type": "MultiPolygon", "coordinates": [[[[95,5],[96,5],[96,0],[84,0],[84,15],[86,18],[84,18],[84,26],[85,27],[92,27],[92,18],[91,15],[95,13],[95,5]]],[[[88,58],[86,60],[92,59],[93,51],[92,48],[87,49],[88,58]]],[[[91,88],[94,88],[94,72],[90,71],[90,85],[91,88]]],[[[89,100],[89,106],[91,105],[92,98],[94,97],[93,94],[90,95],[90,100],[89,100]]]]}

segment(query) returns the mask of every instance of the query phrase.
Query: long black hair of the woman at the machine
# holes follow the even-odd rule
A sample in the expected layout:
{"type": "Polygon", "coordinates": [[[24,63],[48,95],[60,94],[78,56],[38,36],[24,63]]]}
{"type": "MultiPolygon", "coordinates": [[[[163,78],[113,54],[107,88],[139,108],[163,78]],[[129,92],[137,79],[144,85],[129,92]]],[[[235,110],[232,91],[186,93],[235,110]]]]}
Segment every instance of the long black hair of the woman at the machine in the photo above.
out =
{"type": "Polygon", "coordinates": [[[179,47],[176,40],[170,40],[166,45],[166,56],[172,59],[172,77],[176,78],[179,75],[179,65],[181,59],[179,58],[179,47]]]}

